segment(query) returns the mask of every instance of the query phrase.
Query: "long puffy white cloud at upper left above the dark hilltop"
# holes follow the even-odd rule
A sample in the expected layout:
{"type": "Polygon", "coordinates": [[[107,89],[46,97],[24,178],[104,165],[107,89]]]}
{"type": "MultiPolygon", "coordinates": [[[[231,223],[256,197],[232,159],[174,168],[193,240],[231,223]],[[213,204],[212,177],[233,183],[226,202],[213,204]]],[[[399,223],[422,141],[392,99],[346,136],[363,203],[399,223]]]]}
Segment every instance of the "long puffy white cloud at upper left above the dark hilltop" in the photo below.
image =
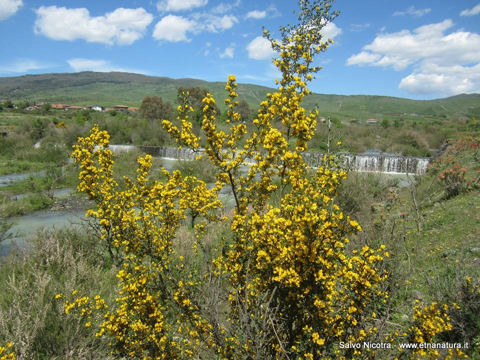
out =
{"type": "Polygon", "coordinates": [[[86,8],[40,6],[34,32],[53,40],[129,45],[141,38],[153,15],[142,7],[117,8],[103,16],[90,16],[86,8]]]}

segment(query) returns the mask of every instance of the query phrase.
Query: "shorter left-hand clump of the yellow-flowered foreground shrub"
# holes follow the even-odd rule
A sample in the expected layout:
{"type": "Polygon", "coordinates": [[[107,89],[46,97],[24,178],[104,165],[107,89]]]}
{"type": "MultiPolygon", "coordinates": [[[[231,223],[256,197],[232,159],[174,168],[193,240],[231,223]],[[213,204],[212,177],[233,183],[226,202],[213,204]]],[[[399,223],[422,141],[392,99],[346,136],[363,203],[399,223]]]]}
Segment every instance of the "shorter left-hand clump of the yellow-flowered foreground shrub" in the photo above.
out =
{"type": "MultiPolygon", "coordinates": [[[[97,219],[105,246],[111,255],[116,253],[119,293],[111,311],[97,295],[93,299],[80,296],[66,300],[65,313],[83,317],[87,327],[92,321],[96,323],[96,335],[111,336],[115,340],[112,351],[118,356],[190,356],[201,343],[195,336],[208,338],[211,325],[196,313],[189,298],[194,283],[181,281],[170,272],[172,241],[187,216],[192,225],[200,217],[204,221],[218,220],[215,210],[222,205],[217,198],[219,187],[209,189],[205,182],[193,176],[183,178],[179,171],[163,170],[164,182],[150,181],[151,156],[146,155],[137,160],[136,178],[125,178],[125,186],[120,189],[113,180],[108,134],[94,126],[90,135],[78,142],[72,153],[81,169],[78,189],[97,203],[97,208],[86,215],[97,219]],[[173,303],[167,304],[164,297],[170,294],[173,303]],[[194,326],[179,320],[165,321],[164,313],[171,307],[187,312],[194,326]],[[101,316],[94,316],[98,313],[101,316]],[[188,336],[183,336],[185,333],[188,336]]],[[[194,227],[201,232],[202,223],[194,227]]],[[[75,290],[71,295],[76,294],[75,290]]]]}

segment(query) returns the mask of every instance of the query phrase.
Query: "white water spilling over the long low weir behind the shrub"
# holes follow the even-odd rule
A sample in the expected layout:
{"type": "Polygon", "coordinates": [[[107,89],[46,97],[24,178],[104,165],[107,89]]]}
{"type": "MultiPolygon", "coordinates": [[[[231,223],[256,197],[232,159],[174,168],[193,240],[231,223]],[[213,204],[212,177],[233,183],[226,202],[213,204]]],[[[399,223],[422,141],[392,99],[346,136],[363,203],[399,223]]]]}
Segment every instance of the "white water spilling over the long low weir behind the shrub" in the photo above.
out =
{"type": "MultiPolygon", "coordinates": [[[[167,146],[136,146],[136,145],[109,145],[113,152],[130,151],[138,149],[154,157],[191,160],[195,154],[188,148],[178,150],[176,147],[167,146]]],[[[304,160],[311,167],[318,166],[322,153],[306,152],[304,160]]],[[[378,171],[387,173],[422,174],[426,170],[428,157],[389,156],[389,155],[344,155],[345,165],[354,171],[378,171]]]]}

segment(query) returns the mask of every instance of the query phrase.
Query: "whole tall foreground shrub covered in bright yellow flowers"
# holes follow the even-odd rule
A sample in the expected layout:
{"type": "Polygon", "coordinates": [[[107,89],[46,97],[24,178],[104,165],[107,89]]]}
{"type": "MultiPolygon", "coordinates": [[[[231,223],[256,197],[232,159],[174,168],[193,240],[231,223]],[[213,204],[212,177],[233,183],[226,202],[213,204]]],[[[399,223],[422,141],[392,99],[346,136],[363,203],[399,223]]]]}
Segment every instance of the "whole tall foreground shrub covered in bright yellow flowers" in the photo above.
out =
{"type": "MultiPolygon", "coordinates": [[[[299,24],[281,27],[280,40],[264,30],[279,54],[273,63],[282,76],[276,79],[278,90],[260,102],[252,131],[235,111],[233,75],[225,86],[228,130],[217,128],[209,93],[201,109],[205,141],[193,132],[193,109],[186,100],[178,105],[176,124],[163,121],[179,146],[207,156],[215,166],[213,186],[164,169],[165,180],[153,180],[151,156],[146,155],[138,158],[136,178],[124,178],[120,187],[113,179],[106,131],[94,126],[74,145],[78,190],[97,204],[86,215],[97,221],[118,267],[118,296],[110,306],[99,296],[66,299],[64,310],[82,316],[97,336],[106,336],[113,355],[363,356],[362,349],[338,344],[365,340],[376,331],[376,315],[368,306],[386,296],[379,285],[387,276],[382,261],[388,253],[384,245],[346,250],[350,237],[361,231],[334,201],[347,174],[335,155],[325,155],[318,168],[303,159],[318,111],[306,111],[300,103],[310,92],[306,84],[320,69],[312,66],[314,56],[332,42],[321,36],[321,28],[337,15],[331,3],[300,1],[299,24]],[[223,216],[218,198],[225,186],[234,199],[231,216],[223,216]],[[211,222],[227,223],[230,235],[208,252],[203,241],[211,222]],[[191,245],[203,272],[174,250],[178,229],[186,223],[193,228],[196,243],[191,245]]],[[[417,316],[419,331],[430,328],[420,321],[422,312],[417,316]]]]}

